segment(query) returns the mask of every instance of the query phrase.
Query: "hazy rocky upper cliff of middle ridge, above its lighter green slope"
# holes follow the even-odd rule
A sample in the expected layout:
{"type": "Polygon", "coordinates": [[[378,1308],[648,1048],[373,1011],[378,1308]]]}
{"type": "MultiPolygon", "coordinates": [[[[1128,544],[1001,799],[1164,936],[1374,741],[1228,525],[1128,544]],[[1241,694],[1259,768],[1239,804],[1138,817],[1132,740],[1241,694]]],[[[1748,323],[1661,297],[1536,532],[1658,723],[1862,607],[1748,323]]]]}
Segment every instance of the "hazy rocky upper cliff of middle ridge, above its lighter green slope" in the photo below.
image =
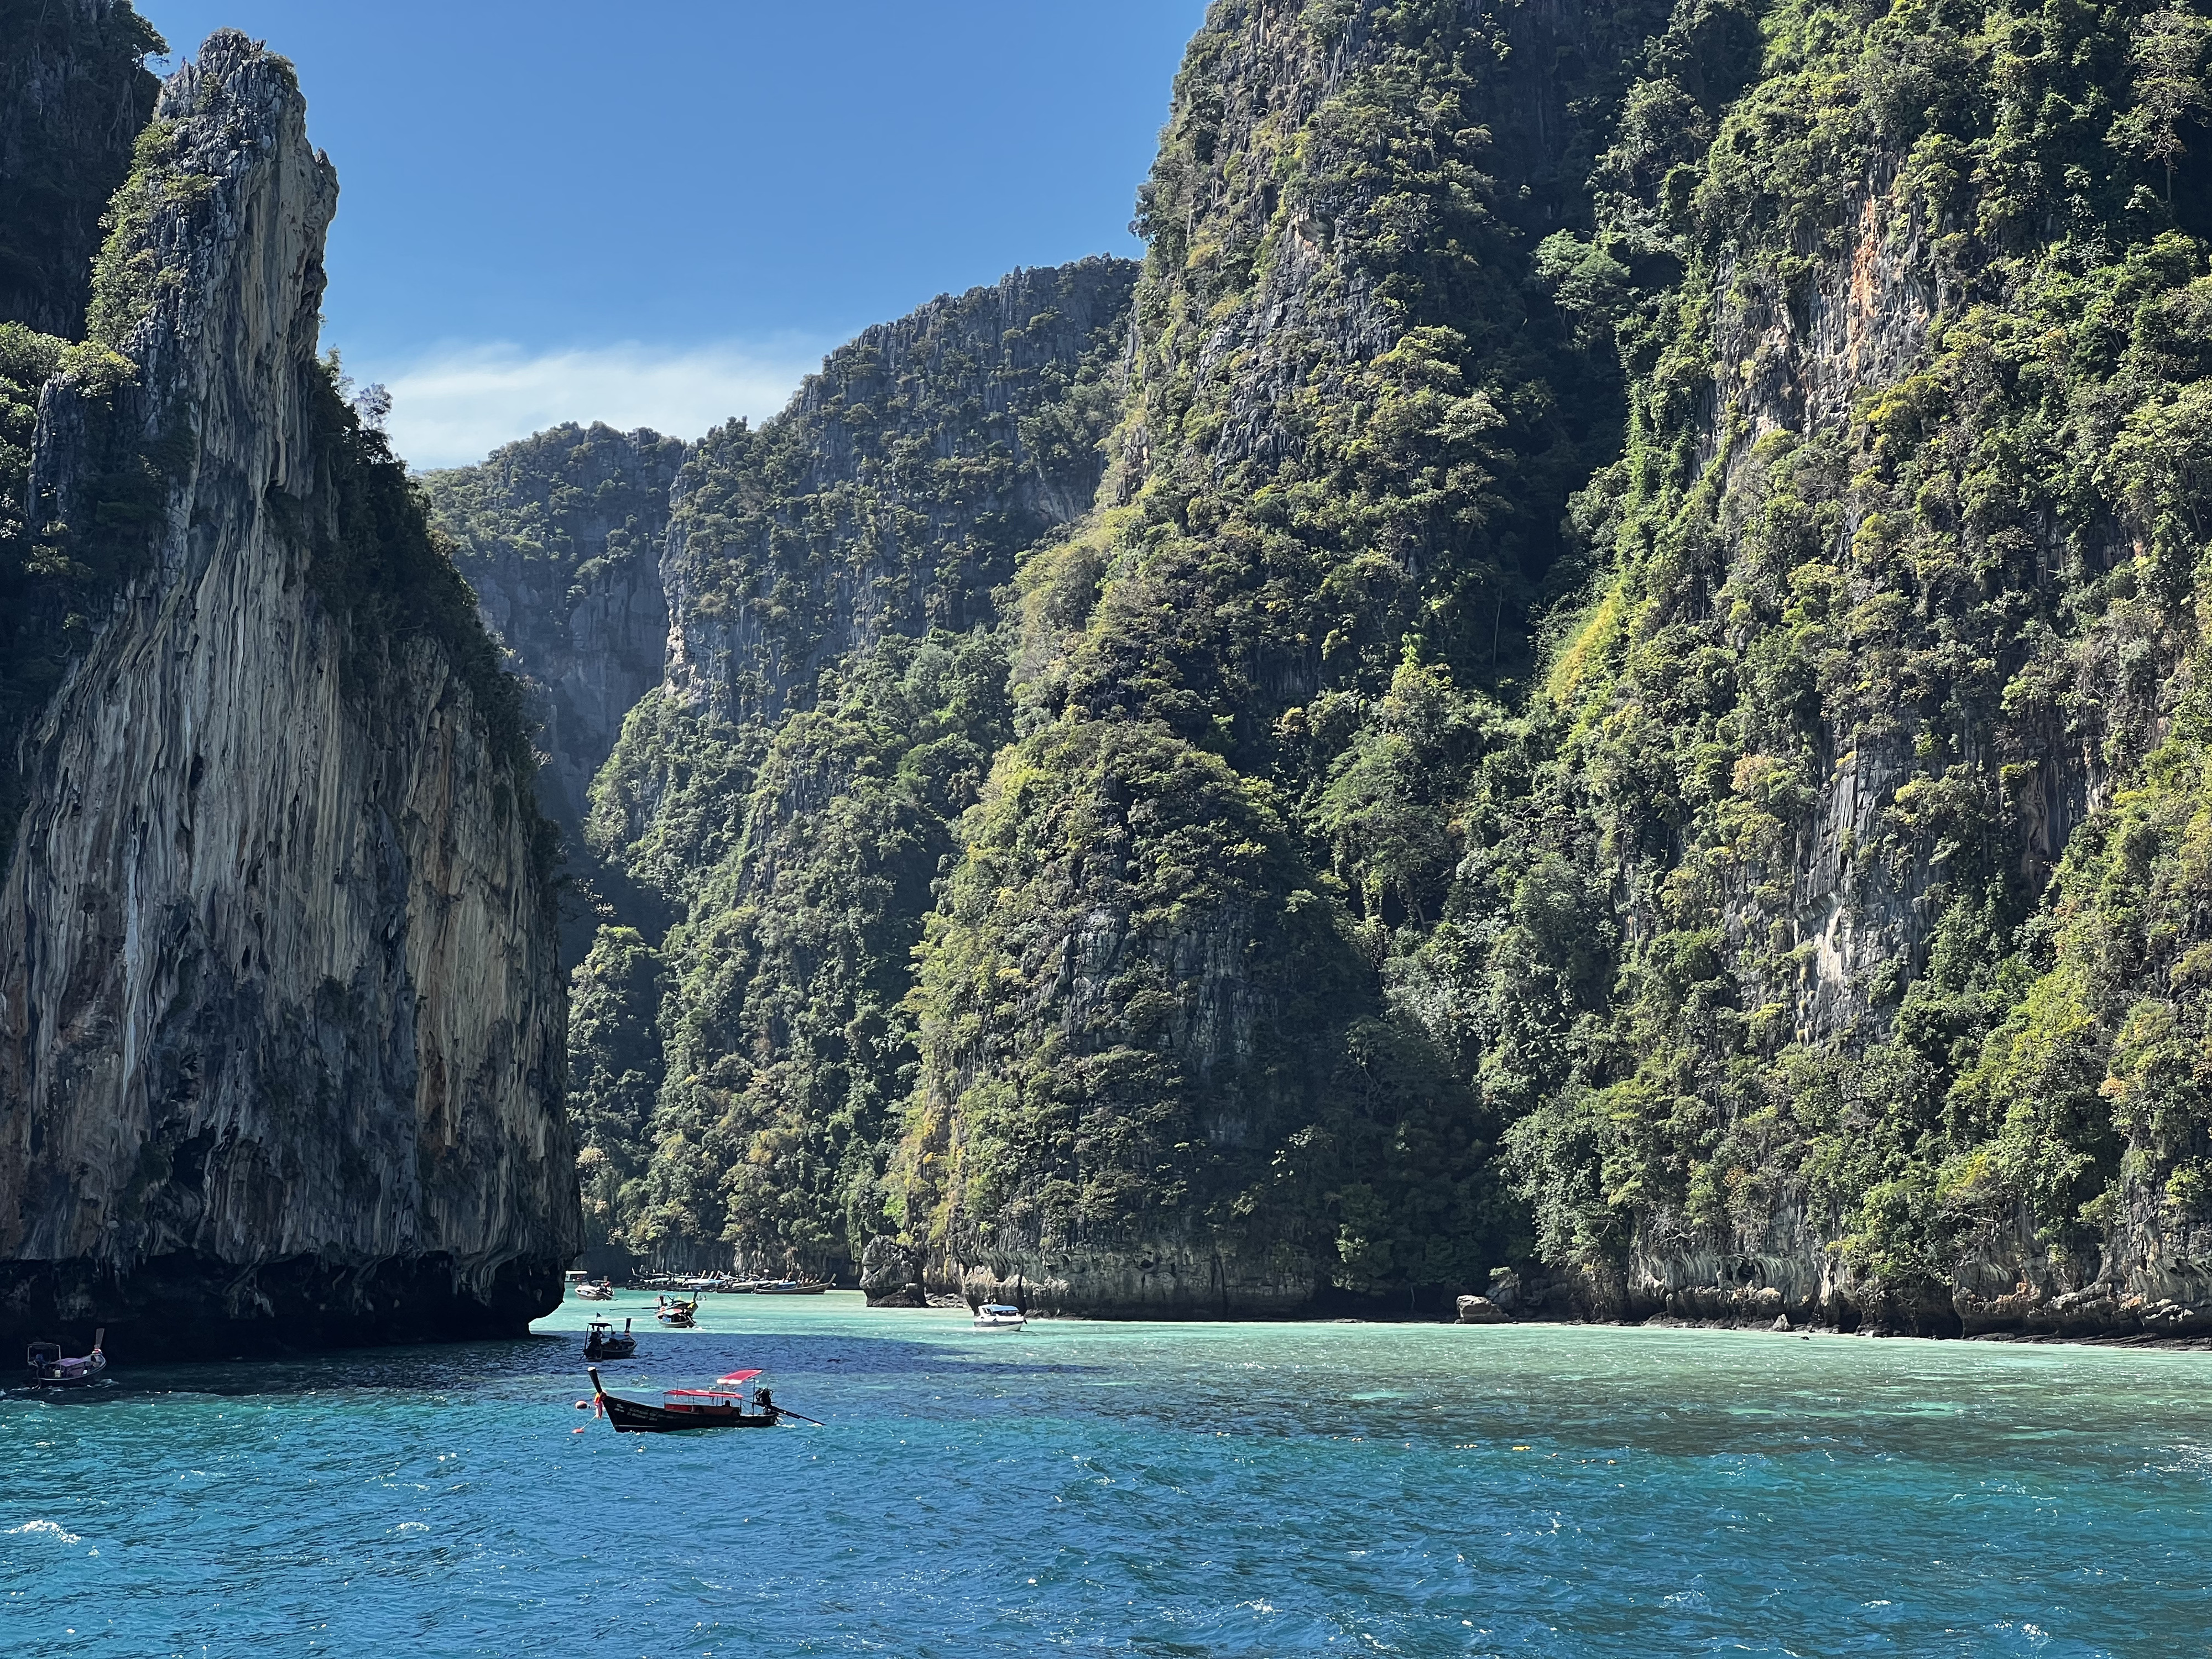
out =
{"type": "Polygon", "coordinates": [[[931,301],[832,352],[759,431],[708,434],[670,535],[672,684],[774,717],[885,635],[989,624],[1015,553],[1097,489],[1133,281],[1084,259],[931,301]]]}

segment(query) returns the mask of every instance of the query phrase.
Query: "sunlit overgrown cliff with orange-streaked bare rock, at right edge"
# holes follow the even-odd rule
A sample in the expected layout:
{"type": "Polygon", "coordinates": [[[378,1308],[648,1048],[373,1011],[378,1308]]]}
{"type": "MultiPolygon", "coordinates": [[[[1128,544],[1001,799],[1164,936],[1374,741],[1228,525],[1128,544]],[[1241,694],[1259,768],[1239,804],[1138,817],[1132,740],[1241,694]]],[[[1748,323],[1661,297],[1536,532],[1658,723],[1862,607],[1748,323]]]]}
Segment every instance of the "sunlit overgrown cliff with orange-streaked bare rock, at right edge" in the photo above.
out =
{"type": "Polygon", "coordinates": [[[1579,259],[1686,274],[1579,296],[1637,376],[1615,573],[1429,951],[1553,1261],[1834,1241],[1823,1296],[1942,1327],[2201,1219],[2208,35],[1796,0],[1728,106],[1657,53],[1630,95],[1699,119],[1624,122],[1579,259]]]}

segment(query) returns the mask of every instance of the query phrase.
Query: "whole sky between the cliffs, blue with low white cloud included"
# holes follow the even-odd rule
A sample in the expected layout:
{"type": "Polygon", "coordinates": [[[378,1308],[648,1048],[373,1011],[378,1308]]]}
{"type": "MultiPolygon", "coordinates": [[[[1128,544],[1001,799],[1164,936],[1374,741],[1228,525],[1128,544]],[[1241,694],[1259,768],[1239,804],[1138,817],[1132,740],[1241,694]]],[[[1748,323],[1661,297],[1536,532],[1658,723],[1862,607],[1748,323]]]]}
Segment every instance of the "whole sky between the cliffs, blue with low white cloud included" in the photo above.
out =
{"type": "MultiPolygon", "coordinates": [[[[692,438],[821,354],[1128,234],[1203,0],[137,0],[299,64],[325,343],[416,465],[564,418],[692,438]]],[[[155,64],[164,69],[164,64],[155,64]]]]}

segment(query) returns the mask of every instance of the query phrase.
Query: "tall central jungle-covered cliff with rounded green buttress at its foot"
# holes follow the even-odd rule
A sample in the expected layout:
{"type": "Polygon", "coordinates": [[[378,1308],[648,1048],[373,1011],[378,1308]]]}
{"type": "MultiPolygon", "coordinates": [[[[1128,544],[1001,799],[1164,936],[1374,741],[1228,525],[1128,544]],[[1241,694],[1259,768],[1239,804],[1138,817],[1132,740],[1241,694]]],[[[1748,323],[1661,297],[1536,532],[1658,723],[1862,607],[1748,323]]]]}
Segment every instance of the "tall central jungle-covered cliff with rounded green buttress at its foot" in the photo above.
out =
{"type": "Polygon", "coordinates": [[[1657,22],[1237,0],[1192,42],[1117,467],[1024,571],[1024,737],[916,1000],[898,1201],[945,1283],[1276,1314],[1486,1265],[1498,1126],[1387,987],[1615,442],[1540,248],[1657,22]]]}

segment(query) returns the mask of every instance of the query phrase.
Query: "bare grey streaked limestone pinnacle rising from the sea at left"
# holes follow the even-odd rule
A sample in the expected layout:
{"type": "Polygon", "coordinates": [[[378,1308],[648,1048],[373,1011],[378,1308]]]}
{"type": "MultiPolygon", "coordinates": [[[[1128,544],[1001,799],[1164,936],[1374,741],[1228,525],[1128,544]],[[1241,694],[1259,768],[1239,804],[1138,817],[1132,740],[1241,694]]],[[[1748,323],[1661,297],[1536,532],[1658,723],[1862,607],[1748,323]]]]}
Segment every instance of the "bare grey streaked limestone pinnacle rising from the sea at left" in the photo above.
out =
{"type": "Polygon", "coordinates": [[[55,551],[131,557],[22,739],[9,1340],[520,1332],[580,1243],[529,745],[400,465],[314,358],[334,206],[290,66],[212,35],[117,199],[108,349],[40,398],[55,551]],[[144,484],[128,522],[117,478],[144,484]]]}

